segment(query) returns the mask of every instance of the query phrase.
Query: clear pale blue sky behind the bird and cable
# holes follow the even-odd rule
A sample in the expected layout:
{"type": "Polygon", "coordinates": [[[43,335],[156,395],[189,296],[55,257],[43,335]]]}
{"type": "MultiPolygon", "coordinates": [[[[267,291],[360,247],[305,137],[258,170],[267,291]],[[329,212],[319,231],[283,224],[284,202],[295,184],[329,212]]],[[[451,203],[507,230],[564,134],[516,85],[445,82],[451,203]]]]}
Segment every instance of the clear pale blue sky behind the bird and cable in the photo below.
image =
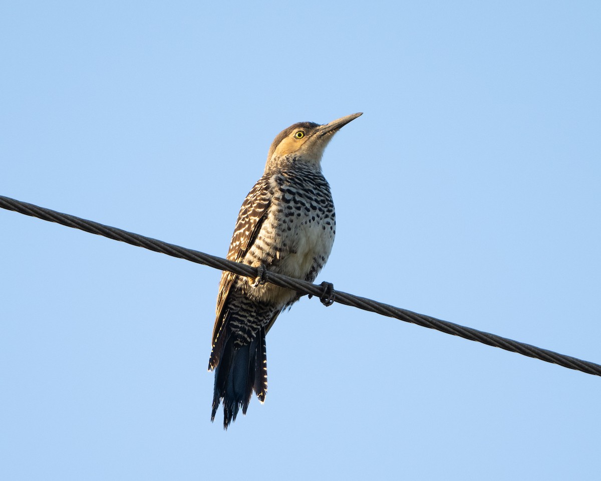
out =
{"type": "MultiPolygon", "coordinates": [[[[601,4],[3,2],[0,195],[225,255],[284,127],[337,289],[601,363],[601,4]]],[[[211,424],[219,272],[0,210],[0,477],[597,480],[601,379],[302,299],[211,424]]]]}

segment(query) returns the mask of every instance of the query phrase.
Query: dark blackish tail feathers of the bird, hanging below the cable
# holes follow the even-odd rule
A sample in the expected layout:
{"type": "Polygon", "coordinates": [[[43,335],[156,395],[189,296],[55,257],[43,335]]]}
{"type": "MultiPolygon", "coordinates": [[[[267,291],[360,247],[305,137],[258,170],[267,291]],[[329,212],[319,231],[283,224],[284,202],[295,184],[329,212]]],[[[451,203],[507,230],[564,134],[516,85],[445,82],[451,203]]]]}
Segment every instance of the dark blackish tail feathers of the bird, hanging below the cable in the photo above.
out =
{"type": "Polygon", "coordinates": [[[215,367],[215,390],[213,391],[213,411],[211,421],[219,403],[224,407],[224,429],[227,429],[240,408],[246,414],[252,391],[257,393],[260,402],[267,394],[267,352],[265,329],[260,328],[250,344],[236,345],[236,336],[224,336],[224,342],[216,346],[211,355],[209,369],[215,367]]]}

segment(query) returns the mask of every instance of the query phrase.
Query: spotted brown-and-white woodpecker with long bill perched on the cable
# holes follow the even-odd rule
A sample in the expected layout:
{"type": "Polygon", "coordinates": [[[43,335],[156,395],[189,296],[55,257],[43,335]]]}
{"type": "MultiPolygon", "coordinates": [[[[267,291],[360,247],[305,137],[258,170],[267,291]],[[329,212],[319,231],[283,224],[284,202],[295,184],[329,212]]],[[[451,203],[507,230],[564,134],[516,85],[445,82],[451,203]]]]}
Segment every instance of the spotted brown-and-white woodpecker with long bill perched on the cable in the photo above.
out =
{"type": "MultiPolygon", "coordinates": [[[[223,406],[224,429],[246,414],[252,391],[267,394],[265,336],[279,314],[301,295],[265,282],[265,271],[313,282],[332,250],[336,221],[322,156],[338,130],[362,112],[327,124],[299,122],[271,144],[263,176],[240,207],[228,260],[257,268],[252,279],[224,271],[219,283],[209,371],[215,371],[215,420],[223,406]]],[[[321,298],[331,304],[332,284],[321,298]]]]}

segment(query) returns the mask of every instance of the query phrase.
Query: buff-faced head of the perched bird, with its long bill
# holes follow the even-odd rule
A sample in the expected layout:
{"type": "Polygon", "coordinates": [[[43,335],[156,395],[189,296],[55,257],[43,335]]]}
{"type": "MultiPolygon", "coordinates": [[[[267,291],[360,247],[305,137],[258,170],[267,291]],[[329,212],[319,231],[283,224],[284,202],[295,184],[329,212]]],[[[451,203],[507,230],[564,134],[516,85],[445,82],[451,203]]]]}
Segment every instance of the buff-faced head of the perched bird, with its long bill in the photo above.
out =
{"type": "Polygon", "coordinates": [[[351,120],[362,115],[347,115],[329,124],[299,122],[282,130],[273,140],[267,155],[267,168],[291,161],[302,161],[319,168],[323,151],[334,134],[351,120]]]}

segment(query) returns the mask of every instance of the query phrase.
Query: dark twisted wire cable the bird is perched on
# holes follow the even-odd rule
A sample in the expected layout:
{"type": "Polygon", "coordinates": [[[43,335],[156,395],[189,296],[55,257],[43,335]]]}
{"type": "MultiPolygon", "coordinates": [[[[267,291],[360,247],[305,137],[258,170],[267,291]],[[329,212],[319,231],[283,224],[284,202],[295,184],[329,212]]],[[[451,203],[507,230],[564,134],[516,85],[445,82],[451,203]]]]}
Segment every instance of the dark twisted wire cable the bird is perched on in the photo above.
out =
{"type": "MultiPolygon", "coordinates": [[[[128,232],[117,227],[88,221],[74,215],[56,212],[55,210],[21,202],[10,197],[0,195],[0,207],[37,217],[44,221],[56,222],[58,224],[66,225],[67,227],[73,227],[92,234],[108,237],[109,239],[127,242],[127,244],[144,247],[145,249],[167,254],[168,256],[207,265],[221,271],[230,271],[234,272],[234,274],[251,278],[255,278],[258,275],[257,268],[242,263],[222,259],[217,256],[211,256],[210,254],[180,247],[175,244],[169,244],[168,242],[162,242],[162,240],[152,239],[151,237],[141,236],[140,234],[128,232]]],[[[287,287],[288,289],[296,290],[303,295],[309,294],[319,298],[324,292],[323,286],[276,274],[275,272],[266,271],[263,278],[276,286],[287,287]]],[[[394,307],[393,305],[384,304],[383,302],[374,301],[373,299],[355,296],[340,290],[334,290],[332,292],[332,297],[335,299],[335,302],[339,302],[340,304],[350,305],[365,311],[381,314],[382,316],[394,317],[394,319],[411,322],[430,329],[436,329],[437,331],[446,332],[447,334],[457,335],[463,337],[463,339],[477,341],[489,346],[505,349],[505,351],[517,352],[517,354],[540,359],[548,363],[558,364],[559,366],[567,367],[568,369],[575,369],[588,374],[601,376],[601,365],[591,363],[590,361],[583,361],[575,357],[549,351],[548,349],[537,348],[536,346],[507,339],[500,335],[478,331],[478,329],[469,328],[446,320],[436,319],[435,317],[426,316],[424,314],[418,314],[413,311],[394,307]]]]}

